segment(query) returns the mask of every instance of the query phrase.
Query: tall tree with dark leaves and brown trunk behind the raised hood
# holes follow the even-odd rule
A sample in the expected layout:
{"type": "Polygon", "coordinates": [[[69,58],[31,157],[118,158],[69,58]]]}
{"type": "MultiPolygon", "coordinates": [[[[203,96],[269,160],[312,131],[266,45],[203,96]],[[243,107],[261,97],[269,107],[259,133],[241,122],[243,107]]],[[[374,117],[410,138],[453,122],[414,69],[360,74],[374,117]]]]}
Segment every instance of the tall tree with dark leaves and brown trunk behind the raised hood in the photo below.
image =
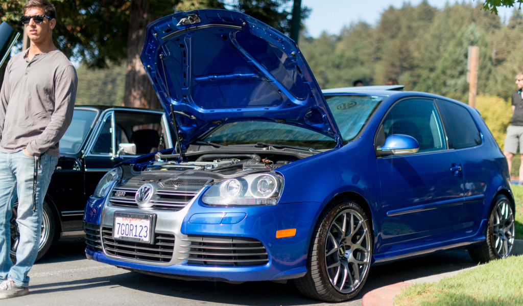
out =
{"type": "MultiPolygon", "coordinates": [[[[288,31],[291,0],[54,0],[58,27],[56,46],[73,61],[91,69],[127,62],[126,92],[122,104],[159,108],[140,61],[145,26],[175,11],[230,8],[247,13],[283,32],[288,31]]],[[[25,0],[0,3],[0,21],[19,32],[18,21],[25,0]]],[[[306,16],[305,10],[302,16],[306,16]]],[[[3,74],[2,74],[3,77],[3,74]]],[[[1,81],[1,80],[0,80],[1,81]]]]}

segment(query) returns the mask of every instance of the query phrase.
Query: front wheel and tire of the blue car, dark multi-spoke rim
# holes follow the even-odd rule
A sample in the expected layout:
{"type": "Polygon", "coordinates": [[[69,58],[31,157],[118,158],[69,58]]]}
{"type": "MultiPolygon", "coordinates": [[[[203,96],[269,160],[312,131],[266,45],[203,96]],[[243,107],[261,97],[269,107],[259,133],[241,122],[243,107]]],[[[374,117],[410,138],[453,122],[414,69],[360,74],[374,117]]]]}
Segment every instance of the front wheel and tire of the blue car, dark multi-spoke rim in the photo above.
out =
{"type": "Polygon", "coordinates": [[[369,274],[373,248],[370,229],[365,211],[356,202],[340,199],[331,203],[315,226],[307,273],[294,280],[298,290],[326,302],[354,298],[369,274]]]}

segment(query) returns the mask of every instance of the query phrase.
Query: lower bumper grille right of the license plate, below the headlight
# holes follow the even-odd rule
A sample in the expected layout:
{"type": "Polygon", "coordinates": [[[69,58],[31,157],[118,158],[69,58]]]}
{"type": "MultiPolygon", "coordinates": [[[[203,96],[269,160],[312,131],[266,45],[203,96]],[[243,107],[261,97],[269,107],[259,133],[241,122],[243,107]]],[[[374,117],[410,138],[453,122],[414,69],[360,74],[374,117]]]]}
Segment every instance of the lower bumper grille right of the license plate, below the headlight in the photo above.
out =
{"type": "Polygon", "coordinates": [[[245,237],[189,235],[183,240],[188,264],[206,266],[258,266],[269,262],[260,241],[245,237]]]}

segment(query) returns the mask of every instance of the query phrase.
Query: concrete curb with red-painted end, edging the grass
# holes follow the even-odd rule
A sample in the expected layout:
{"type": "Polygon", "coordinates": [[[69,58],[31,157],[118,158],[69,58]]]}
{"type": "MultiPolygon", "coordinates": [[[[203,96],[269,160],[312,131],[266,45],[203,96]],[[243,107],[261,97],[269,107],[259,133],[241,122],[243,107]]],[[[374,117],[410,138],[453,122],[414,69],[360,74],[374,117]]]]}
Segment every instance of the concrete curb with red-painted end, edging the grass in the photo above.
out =
{"type": "MultiPolygon", "coordinates": [[[[523,240],[514,240],[514,246],[512,248],[512,255],[522,255],[523,254],[523,240]]],[[[374,289],[372,291],[369,291],[363,295],[363,298],[361,298],[361,306],[392,306],[392,300],[394,299],[394,296],[396,294],[399,294],[401,290],[405,287],[411,286],[412,284],[418,284],[419,282],[431,282],[431,281],[438,281],[440,279],[454,276],[461,271],[473,269],[474,267],[470,267],[467,269],[461,269],[458,271],[452,271],[437,275],[431,275],[427,277],[422,278],[416,278],[412,280],[397,282],[396,284],[384,286],[381,288],[374,289]]]]}

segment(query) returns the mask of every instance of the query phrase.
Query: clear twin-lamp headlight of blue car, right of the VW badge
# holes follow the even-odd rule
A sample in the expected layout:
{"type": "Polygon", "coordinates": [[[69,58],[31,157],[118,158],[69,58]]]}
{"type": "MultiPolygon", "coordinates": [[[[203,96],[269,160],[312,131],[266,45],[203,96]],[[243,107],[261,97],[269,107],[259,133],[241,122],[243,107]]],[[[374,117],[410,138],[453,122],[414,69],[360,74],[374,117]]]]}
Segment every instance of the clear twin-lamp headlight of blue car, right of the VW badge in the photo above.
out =
{"type": "Polygon", "coordinates": [[[277,173],[251,174],[211,186],[202,201],[220,206],[274,205],[282,187],[283,177],[277,173]]]}

